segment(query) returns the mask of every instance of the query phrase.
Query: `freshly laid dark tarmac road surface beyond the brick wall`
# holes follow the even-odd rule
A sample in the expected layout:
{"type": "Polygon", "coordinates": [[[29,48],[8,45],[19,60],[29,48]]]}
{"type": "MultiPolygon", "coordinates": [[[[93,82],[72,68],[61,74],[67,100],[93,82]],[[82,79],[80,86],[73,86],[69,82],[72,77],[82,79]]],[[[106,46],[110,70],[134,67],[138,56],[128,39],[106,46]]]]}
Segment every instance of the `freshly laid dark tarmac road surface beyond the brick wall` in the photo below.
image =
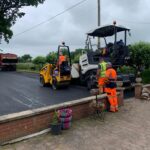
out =
{"type": "Polygon", "coordinates": [[[0,115],[39,108],[90,96],[85,87],[42,87],[37,74],[0,72],[0,115]]]}

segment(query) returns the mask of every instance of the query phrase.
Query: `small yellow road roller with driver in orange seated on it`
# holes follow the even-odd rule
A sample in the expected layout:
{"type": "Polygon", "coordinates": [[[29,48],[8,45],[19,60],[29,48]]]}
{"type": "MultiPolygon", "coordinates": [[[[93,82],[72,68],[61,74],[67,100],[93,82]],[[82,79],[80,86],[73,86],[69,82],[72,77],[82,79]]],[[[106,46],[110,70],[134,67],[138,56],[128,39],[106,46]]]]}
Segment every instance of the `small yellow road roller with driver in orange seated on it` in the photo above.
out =
{"type": "Polygon", "coordinates": [[[57,60],[53,64],[46,64],[40,70],[40,83],[50,84],[54,90],[68,87],[71,82],[71,57],[69,46],[63,42],[58,46],[57,60]],[[62,59],[63,60],[60,60],[62,59]]]}

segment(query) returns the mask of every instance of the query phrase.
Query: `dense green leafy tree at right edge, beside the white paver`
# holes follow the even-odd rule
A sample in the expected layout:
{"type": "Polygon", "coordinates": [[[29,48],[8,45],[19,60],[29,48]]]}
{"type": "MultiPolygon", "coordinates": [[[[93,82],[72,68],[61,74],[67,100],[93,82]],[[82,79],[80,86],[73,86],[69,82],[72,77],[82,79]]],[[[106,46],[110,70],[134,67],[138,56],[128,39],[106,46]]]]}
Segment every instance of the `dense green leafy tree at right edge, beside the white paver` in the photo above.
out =
{"type": "Polygon", "coordinates": [[[150,43],[138,42],[129,47],[131,64],[137,71],[150,67],[150,43]]]}

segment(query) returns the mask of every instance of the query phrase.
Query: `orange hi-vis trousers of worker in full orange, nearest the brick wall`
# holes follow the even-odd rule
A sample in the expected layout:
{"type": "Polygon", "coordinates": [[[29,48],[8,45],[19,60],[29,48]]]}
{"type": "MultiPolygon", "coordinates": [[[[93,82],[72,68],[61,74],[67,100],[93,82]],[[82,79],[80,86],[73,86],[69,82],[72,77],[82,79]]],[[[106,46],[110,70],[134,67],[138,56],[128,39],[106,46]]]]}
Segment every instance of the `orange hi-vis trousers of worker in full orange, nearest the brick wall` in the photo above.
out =
{"type": "Polygon", "coordinates": [[[105,88],[105,92],[107,93],[108,101],[110,103],[110,111],[116,112],[118,111],[118,99],[116,88],[105,88]]]}

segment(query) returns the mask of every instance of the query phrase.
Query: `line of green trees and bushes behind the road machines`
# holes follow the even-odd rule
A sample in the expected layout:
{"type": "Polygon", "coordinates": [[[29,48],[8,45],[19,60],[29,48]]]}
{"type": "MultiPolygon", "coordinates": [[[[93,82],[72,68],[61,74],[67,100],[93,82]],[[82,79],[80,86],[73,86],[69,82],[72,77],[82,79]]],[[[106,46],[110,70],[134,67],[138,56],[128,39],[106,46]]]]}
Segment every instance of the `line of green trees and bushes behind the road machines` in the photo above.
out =
{"type": "MultiPolygon", "coordinates": [[[[71,51],[72,63],[78,63],[79,57],[85,51],[85,49],[76,49],[71,51]]],[[[130,51],[130,66],[135,68],[137,71],[142,71],[143,69],[150,68],[150,43],[148,42],[138,42],[129,46],[130,51]]],[[[25,54],[19,57],[20,63],[32,62],[36,65],[44,65],[45,63],[56,63],[57,52],[52,51],[46,56],[37,56],[32,58],[29,54],[25,54]]]]}

